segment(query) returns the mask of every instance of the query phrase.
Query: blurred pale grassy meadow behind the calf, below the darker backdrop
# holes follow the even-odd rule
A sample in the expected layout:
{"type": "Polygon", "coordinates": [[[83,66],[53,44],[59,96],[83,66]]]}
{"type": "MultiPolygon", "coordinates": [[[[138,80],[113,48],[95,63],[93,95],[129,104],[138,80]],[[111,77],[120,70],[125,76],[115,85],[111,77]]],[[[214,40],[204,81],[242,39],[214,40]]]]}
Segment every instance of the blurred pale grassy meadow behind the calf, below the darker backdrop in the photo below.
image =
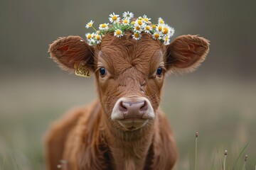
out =
{"type": "MultiPolygon", "coordinates": [[[[197,169],[222,169],[225,149],[226,169],[242,170],[245,154],[245,169],[255,169],[255,81],[191,75],[168,77],[161,101],[178,147],[177,169],[194,169],[196,132],[197,169]]],[[[60,71],[4,80],[0,169],[45,169],[43,135],[68,109],[96,98],[94,78],[60,71]]]]}

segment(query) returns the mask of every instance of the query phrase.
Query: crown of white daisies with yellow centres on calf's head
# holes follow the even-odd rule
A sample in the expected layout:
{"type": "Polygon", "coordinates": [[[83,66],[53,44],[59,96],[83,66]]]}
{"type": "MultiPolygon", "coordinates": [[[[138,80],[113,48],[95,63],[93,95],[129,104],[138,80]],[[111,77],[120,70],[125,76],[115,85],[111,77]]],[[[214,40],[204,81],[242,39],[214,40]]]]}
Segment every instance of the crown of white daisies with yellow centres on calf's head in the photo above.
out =
{"type": "Polygon", "coordinates": [[[89,45],[100,44],[102,37],[107,33],[114,32],[114,36],[121,38],[125,35],[126,31],[132,31],[132,38],[140,40],[142,38],[142,32],[149,33],[154,40],[160,40],[164,42],[164,45],[168,45],[171,36],[174,35],[174,28],[171,28],[162,18],[158,18],[158,24],[151,23],[151,18],[147,18],[146,15],[139,16],[136,21],[132,21],[134,14],[132,12],[124,12],[123,18],[115,13],[110,14],[110,23],[102,23],[99,26],[99,30],[96,30],[92,25],[94,21],[90,21],[86,24],[86,28],[93,28],[95,33],[86,33],[85,36],[89,45]]]}

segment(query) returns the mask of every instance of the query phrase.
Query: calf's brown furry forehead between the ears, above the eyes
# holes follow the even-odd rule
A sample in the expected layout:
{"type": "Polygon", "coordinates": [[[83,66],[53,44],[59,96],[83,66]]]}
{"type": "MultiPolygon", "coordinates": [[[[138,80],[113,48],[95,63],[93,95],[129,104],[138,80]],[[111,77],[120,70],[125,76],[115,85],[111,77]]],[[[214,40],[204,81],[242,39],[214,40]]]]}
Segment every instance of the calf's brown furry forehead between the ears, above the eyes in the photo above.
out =
{"type": "Polygon", "coordinates": [[[97,52],[97,64],[103,64],[115,74],[131,67],[148,74],[151,69],[156,69],[164,61],[163,50],[161,43],[147,36],[142,40],[112,36],[102,40],[97,52]]]}

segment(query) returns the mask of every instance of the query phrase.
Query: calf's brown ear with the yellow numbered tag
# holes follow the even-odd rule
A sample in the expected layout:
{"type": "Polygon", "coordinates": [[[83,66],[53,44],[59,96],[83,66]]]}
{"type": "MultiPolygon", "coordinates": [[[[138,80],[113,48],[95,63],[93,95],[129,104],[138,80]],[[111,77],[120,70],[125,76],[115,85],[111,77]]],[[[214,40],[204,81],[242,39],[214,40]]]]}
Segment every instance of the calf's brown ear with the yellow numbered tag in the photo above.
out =
{"type": "Polygon", "coordinates": [[[75,72],[75,65],[85,65],[93,71],[94,48],[79,36],[58,38],[50,44],[50,57],[69,72],[75,72]]]}

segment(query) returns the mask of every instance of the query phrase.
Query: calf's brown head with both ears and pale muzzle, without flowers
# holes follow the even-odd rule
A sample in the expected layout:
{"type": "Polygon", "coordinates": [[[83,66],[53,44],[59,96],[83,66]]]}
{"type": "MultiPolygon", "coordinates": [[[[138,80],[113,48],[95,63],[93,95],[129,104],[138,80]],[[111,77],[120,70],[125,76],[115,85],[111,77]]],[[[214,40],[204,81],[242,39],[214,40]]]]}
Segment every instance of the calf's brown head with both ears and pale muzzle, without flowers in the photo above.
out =
{"type": "Polygon", "coordinates": [[[105,118],[124,131],[151,125],[166,73],[192,72],[208,50],[208,40],[197,35],[182,35],[163,45],[147,33],[142,33],[141,40],[134,40],[132,33],[122,38],[109,33],[94,46],[78,36],[68,36],[49,48],[61,68],[75,72],[75,65],[82,64],[95,74],[105,118]]]}

